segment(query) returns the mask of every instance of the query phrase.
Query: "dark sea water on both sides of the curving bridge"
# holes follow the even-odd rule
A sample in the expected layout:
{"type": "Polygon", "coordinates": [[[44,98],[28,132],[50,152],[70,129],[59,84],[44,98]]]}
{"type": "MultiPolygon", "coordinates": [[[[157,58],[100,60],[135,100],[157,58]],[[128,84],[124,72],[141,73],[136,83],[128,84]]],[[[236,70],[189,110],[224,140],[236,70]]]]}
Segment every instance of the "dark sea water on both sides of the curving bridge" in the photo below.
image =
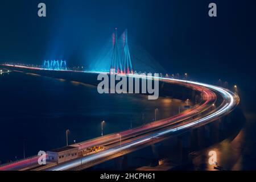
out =
{"type": "MultiPolygon", "coordinates": [[[[157,118],[161,119],[176,114],[179,106],[185,104],[171,98],[149,101],[147,96],[139,94],[98,94],[94,86],[18,72],[2,74],[0,86],[2,163],[22,159],[23,142],[25,155],[36,155],[39,150],[65,146],[66,129],[70,130],[69,144],[74,140],[81,142],[101,135],[102,120],[105,120],[104,134],[110,134],[153,121],[155,108],[159,109],[157,118]]],[[[217,152],[218,165],[224,169],[256,169],[256,117],[249,96],[250,93],[241,89],[239,110],[245,116],[245,123],[240,131],[220,143],[195,151],[192,164],[179,169],[213,170],[208,164],[210,150],[217,152]]],[[[237,121],[230,122],[237,125],[237,121]]],[[[148,159],[152,158],[151,147],[139,151],[134,160],[138,160],[140,153],[141,156],[148,153],[148,159]]],[[[133,158],[129,159],[131,167],[137,166],[133,158]]],[[[143,164],[147,166],[147,163],[143,164]]],[[[167,166],[169,169],[170,165],[167,166]]]]}

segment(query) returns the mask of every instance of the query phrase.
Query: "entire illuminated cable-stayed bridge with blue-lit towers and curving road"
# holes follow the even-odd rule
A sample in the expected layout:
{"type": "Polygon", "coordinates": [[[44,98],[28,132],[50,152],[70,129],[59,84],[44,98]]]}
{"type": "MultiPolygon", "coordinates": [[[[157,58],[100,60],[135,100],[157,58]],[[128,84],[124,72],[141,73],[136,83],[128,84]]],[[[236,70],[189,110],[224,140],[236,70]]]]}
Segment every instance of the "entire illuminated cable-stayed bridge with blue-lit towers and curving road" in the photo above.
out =
{"type": "MultiPolygon", "coordinates": [[[[139,150],[140,148],[149,146],[153,143],[160,142],[166,138],[174,135],[185,133],[195,127],[206,125],[209,122],[216,121],[217,119],[230,113],[240,102],[237,94],[230,92],[218,86],[204,84],[201,82],[177,80],[170,77],[155,77],[145,75],[135,75],[133,68],[133,61],[131,60],[129,46],[128,46],[128,33],[125,31],[125,39],[123,43],[122,56],[119,54],[117,46],[117,28],[114,34],[114,46],[112,52],[112,60],[109,72],[86,72],[67,70],[67,63],[65,60],[44,60],[42,68],[27,67],[13,64],[3,64],[1,67],[13,71],[22,71],[42,74],[56,73],[61,76],[65,74],[88,77],[97,76],[98,73],[107,75],[127,75],[128,77],[139,77],[141,79],[156,79],[166,84],[175,84],[184,86],[191,90],[196,90],[201,94],[201,101],[199,104],[189,108],[183,113],[177,114],[173,117],[154,121],[146,125],[136,127],[131,130],[119,131],[118,133],[105,135],[84,142],[76,143],[70,148],[77,150],[76,158],[67,160],[66,162],[51,162],[49,154],[47,158],[49,163],[46,165],[39,165],[38,159],[40,156],[32,156],[18,162],[3,164],[0,170],[81,170],[86,169],[96,164],[106,162],[117,158],[122,155],[129,154],[130,152],[139,150]],[[88,147],[104,146],[98,152],[84,154],[84,150],[88,147]]],[[[170,90],[171,91],[171,90],[170,90]]],[[[69,148],[69,149],[70,149],[69,148]]],[[[64,147],[65,150],[69,150],[64,147]]],[[[54,151],[61,151],[64,149],[56,149],[54,151]]],[[[58,156],[62,157],[62,156],[58,156]]]]}

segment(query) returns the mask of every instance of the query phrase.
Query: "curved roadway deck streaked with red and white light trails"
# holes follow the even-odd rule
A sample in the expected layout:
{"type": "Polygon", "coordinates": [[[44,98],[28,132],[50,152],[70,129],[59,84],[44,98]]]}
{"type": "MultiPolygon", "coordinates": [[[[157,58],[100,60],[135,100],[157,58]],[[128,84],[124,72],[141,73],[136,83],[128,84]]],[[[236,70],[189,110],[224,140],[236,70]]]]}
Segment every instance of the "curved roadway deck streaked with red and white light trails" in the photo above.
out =
{"type": "MultiPolygon", "coordinates": [[[[31,69],[30,67],[27,68],[31,69]]],[[[138,75],[129,76],[138,77],[138,75]]],[[[147,78],[149,76],[140,75],[139,77],[147,78]]],[[[181,131],[191,129],[191,127],[198,127],[205,125],[208,122],[216,121],[216,119],[223,117],[232,111],[240,102],[240,98],[236,94],[218,86],[194,81],[176,80],[172,78],[154,76],[150,78],[159,79],[160,81],[169,82],[172,84],[180,84],[195,89],[201,92],[201,102],[191,109],[175,115],[174,117],[148,123],[147,125],[122,131],[120,133],[109,134],[105,135],[104,137],[98,137],[85,142],[73,144],[72,146],[79,147],[80,150],[84,150],[87,147],[96,145],[107,147],[105,150],[95,154],[86,155],[82,158],[62,163],[57,166],[39,167],[38,169],[57,171],[88,168],[98,163],[105,162],[106,160],[110,160],[138,150],[138,148],[146,147],[152,143],[159,142],[159,140],[170,137],[170,135],[177,134],[181,131]],[[219,105],[215,105],[217,100],[216,94],[222,97],[222,102],[219,105]]],[[[20,160],[19,162],[0,166],[0,170],[20,169],[27,165],[36,166],[37,161],[38,156],[34,156],[30,159],[24,159],[20,160]]]]}

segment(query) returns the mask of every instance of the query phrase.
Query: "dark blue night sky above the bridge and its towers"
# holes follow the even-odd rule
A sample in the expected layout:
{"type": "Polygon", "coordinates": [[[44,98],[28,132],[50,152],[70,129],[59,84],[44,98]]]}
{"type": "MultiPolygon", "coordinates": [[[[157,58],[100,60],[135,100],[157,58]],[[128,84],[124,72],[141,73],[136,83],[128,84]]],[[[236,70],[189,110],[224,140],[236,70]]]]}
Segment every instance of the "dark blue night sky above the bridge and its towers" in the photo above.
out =
{"type": "Polygon", "coordinates": [[[188,72],[206,82],[221,78],[253,96],[255,10],[252,0],[2,0],[0,62],[42,64],[60,57],[86,67],[115,27],[128,28],[168,73],[188,72]],[[40,2],[46,18],[37,15],[40,2]],[[208,16],[210,2],[217,4],[215,18],[208,16]]]}

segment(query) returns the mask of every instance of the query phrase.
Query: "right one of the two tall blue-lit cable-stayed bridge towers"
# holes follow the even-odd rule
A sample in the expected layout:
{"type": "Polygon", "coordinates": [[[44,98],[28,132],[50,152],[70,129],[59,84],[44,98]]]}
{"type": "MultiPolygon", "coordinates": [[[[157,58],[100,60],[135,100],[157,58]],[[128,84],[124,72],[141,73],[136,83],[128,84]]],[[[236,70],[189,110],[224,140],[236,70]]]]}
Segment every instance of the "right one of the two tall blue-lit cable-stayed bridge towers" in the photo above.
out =
{"type": "Polygon", "coordinates": [[[123,73],[133,73],[133,65],[131,64],[131,56],[128,46],[128,31],[125,30],[125,47],[123,48],[123,57],[122,57],[122,68],[123,73]]]}

